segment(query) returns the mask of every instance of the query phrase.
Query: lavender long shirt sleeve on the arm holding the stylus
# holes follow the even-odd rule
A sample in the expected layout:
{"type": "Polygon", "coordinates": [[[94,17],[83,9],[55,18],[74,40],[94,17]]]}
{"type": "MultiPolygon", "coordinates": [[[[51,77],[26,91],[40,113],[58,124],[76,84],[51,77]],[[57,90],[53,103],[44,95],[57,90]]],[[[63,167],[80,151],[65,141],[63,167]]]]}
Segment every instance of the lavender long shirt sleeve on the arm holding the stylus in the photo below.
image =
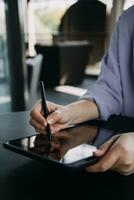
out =
{"type": "Polygon", "coordinates": [[[134,6],[121,15],[102,59],[95,86],[81,97],[96,102],[100,117],[134,117],[134,6]]]}

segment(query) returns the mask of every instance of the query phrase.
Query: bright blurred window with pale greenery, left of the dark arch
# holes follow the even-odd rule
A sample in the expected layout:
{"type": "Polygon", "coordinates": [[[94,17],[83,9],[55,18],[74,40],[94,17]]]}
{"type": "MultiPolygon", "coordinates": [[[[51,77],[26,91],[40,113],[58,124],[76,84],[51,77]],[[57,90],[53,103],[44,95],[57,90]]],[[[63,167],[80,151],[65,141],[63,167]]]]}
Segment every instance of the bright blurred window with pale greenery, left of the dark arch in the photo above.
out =
{"type": "Polygon", "coordinates": [[[60,19],[66,9],[77,0],[31,0],[28,5],[28,43],[51,44],[53,35],[58,31],[60,19]]]}

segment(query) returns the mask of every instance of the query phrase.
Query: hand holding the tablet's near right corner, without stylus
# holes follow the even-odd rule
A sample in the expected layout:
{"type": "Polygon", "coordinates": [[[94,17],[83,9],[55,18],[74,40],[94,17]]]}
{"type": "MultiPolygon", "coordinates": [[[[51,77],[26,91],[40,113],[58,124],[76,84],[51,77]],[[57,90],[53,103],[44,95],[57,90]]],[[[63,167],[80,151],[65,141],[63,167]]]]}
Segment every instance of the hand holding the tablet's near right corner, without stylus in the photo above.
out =
{"type": "Polygon", "coordinates": [[[97,164],[86,168],[88,172],[111,169],[123,175],[134,173],[134,133],[113,136],[94,155],[101,158],[97,164]]]}

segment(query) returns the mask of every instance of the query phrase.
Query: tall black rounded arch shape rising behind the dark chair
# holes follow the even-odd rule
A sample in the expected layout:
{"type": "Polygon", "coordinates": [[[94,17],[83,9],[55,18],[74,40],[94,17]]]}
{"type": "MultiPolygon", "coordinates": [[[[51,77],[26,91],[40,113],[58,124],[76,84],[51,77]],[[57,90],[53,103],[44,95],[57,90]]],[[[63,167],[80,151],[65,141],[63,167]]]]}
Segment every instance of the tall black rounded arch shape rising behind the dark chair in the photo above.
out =
{"type": "Polygon", "coordinates": [[[80,0],[63,15],[57,40],[89,40],[94,45],[90,62],[104,54],[106,5],[97,0],[80,0]]]}

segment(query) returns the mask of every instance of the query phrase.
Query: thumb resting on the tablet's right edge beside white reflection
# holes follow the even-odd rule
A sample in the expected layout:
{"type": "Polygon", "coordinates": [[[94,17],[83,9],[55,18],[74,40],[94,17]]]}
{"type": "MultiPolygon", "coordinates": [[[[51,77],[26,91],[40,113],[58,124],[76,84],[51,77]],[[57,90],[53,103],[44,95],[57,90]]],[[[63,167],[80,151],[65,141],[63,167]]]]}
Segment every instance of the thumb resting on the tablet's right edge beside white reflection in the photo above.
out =
{"type": "Polygon", "coordinates": [[[113,145],[114,142],[119,138],[120,134],[113,136],[111,139],[109,139],[107,142],[102,144],[97,151],[94,152],[94,156],[101,157],[103,156],[109,148],[113,145]]]}

